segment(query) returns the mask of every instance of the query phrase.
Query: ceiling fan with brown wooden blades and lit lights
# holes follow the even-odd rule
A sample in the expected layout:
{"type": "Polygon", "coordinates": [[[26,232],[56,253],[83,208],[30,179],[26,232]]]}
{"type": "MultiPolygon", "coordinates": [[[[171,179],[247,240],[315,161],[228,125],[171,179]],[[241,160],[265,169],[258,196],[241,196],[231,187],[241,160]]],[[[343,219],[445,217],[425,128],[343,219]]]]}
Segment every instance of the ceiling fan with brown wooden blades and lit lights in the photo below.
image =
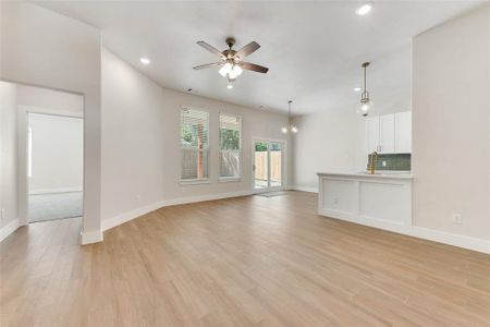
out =
{"type": "Polygon", "coordinates": [[[233,37],[229,37],[226,38],[226,45],[229,48],[221,52],[205,41],[198,41],[197,44],[203,48],[205,48],[206,50],[208,50],[209,52],[218,56],[221,59],[221,61],[196,65],[194,69],[203,70],[213,66],[221,66],[219,73],[221,74],[221,76],[226,77],[228,82],[230,83],[235,81],[236,77],[242,74],[243,70],[249,70],[264,74],[267,73],[267,71],[269,70],[266,66],[243,61],[245,57],[247,57],[248,55],[255,52],[256,50],[258,50],[258,48],[260,48],[259,44],[257,44],[256,41],[252,41],[242,49],[240,49],[238,51],[236,51],[232,49],[233,45],[235,44],[235,39],[233,37]]]}

